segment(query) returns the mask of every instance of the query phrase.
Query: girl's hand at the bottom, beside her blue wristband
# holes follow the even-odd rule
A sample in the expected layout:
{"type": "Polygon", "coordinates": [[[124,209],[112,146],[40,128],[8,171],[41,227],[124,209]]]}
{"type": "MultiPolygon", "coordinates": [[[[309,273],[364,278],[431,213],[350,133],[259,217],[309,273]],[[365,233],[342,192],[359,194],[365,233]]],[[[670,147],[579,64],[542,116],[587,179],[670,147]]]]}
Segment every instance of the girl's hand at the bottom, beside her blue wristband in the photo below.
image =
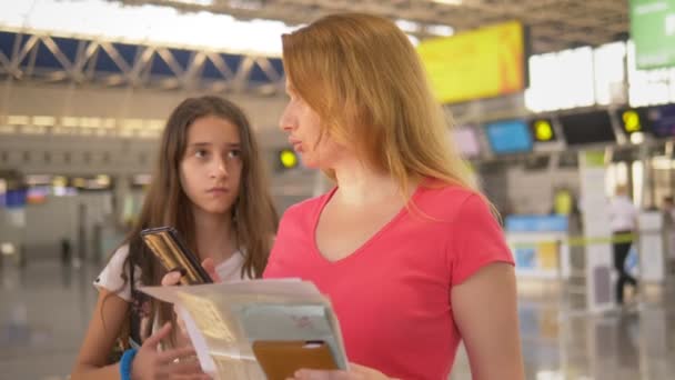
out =
{"type": "Polygon", "coordinates": [[[148,337],[131,364],[132,379],[210,379],[202,372],[194,349],[182,347],[158,351],[158,344],[171,332],[171,323],[148,337]],[[178,359],[178,361],[177,361],[178,359]]]}

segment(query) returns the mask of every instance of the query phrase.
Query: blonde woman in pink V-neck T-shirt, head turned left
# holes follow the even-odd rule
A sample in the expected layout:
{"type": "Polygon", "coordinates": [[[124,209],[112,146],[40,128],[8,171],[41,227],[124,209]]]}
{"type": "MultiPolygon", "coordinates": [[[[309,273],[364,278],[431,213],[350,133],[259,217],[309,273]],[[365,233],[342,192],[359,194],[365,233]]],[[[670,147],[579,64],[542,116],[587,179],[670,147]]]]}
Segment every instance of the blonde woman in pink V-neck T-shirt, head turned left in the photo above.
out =
{"type": "Polygon", "coordinates": [[[464,341],[474,379],[523,379],[513,259],[447,138],[396,26],[335,14],[283,36],[280,127],[336,186],[290,208],[265,278],[326,293],[350,372],[298,379],[446,379],[464,341]]]}

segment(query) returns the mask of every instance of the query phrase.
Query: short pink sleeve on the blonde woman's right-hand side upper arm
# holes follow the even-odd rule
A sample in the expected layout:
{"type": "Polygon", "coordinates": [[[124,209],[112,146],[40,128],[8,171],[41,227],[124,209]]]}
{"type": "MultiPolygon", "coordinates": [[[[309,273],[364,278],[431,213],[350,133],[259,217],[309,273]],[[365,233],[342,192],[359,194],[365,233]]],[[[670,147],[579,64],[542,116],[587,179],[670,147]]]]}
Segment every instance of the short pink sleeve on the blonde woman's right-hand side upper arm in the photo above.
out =
{"type": "Polygon", "coordinates": [[[473,194],[462,203],[450,232],[446,254],[452,286],[464,282],[490,263],[514,263],[502,228],[478,196],[473,194]]]}

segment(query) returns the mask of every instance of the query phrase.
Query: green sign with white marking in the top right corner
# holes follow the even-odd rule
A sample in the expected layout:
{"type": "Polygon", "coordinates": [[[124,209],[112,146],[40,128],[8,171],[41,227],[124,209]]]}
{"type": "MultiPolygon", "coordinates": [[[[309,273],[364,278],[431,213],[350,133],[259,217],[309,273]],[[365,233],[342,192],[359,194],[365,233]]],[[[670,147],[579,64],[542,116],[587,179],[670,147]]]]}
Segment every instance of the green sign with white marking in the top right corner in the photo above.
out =
{"type": "Polygon", "coordinates": [[[631,0],[638,69],[675,67],[675,0],[631,0]]]}

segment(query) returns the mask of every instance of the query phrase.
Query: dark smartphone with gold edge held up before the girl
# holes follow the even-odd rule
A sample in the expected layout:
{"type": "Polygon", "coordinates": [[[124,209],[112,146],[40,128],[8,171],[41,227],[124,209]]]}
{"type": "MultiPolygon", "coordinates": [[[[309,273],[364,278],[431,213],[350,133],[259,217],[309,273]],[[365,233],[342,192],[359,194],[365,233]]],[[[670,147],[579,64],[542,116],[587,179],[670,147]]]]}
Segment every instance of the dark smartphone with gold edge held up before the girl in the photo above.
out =
{"type": "Polygon", "coordinates": [[[199,259],[188,249],[173,227],[150,228],[141,231],[143,242],[167,271],[180,271],[181,284],[212,283],[199,259]]]}

